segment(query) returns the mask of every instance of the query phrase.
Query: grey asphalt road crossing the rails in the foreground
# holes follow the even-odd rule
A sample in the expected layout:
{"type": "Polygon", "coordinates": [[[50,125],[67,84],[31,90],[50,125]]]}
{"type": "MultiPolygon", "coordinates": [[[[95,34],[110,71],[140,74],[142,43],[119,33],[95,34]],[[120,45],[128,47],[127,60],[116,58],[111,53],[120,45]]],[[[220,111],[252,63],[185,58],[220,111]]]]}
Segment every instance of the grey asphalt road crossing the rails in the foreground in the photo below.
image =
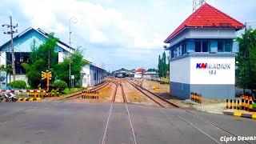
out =
{"type": "MultiPolygon", "coordinates": [[[[0,143],[102,143],[110,105],[82,102],[1,102],[0,143]]],[[[178,108],[164,109],[134,104],[128,104],[128,107],[137,143],[210,144],[226,143],[220,142],[220,138],[230,137],[232,134],[256,136],[256,121],[249,118],[189,110],[196,114],[193,115],[178,108]]],[[[125,105],[114,103],[105,142],[112,144],[133,141],[125,105]]]]}

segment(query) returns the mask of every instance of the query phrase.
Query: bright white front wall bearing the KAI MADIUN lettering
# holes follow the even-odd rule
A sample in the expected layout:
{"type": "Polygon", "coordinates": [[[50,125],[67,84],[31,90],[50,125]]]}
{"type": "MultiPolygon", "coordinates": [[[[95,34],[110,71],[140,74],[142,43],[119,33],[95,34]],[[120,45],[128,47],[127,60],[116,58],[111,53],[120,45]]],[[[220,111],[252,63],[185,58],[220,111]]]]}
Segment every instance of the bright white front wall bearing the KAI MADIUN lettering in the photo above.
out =
{"type": "Polygon", "coordinates": [[[234,57],[190,57],[190,84],[234,84],[234,82],[234,57]],[[227,63],[230,64],[230,69],[217,69],[216,74],[210,74],[209,70],[215,69],[197,69],[197,63],[207,63],[207,65],[227,63]]]}

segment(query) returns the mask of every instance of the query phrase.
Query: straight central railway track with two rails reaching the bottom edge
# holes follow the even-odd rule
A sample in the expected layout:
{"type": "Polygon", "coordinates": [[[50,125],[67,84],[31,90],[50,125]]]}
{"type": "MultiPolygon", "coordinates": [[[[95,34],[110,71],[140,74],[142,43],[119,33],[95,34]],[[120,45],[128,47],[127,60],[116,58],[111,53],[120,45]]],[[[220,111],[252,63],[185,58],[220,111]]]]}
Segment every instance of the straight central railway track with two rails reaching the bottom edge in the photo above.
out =
{"type": "Polygon", "coordinates": [[[111,102],[109,114],[108,114],[108,117],[107,117],[107,120],[106,120],[106,126],[105,126],[104,134],[103,134],[103,137],[102,137],[102,144],[106,143],[107,130],[108,130],[108,126],[109,126],[109,123],[110,123],[110,117],[111,117],[111,114],[112,114],[112,111],[113,111],[113,106],[116,103],[116,94],[117,94],[117,91],[118,91],[118,86],[121,86],[121,90],[122,90],[121,94],[122,94],[122,99],[123,99],[122,102],[125,103],[125,106],[126,106],[126,114],[127,114],[129,124],[130,124],[130,130],[131,130],[131,134],[132,134],[132,137],[133,137],[133,143],[137,144],[136,136],[135,136],[135,133],[134,133],[134,126],[132,125],[132,122],[131,122],[130,111],[129,111],[129,108],[127,106],[126,94],[125,94],[125,91],[123,89],[122,82],[120,80],[118,80],[118,82],[114,82],[114,81],[112,81],[112,82],[115,84],[116,87],[115,87],[114,94],[113,94],[113,97],[112,97],[112,102],[111,102]]]}

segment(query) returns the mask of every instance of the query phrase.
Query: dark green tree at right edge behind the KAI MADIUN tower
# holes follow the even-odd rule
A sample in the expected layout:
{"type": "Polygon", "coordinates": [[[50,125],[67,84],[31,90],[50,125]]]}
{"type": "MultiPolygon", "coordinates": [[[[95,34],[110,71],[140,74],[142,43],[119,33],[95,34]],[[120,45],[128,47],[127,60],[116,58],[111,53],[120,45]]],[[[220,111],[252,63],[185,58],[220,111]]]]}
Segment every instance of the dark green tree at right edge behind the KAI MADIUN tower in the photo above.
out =
{"type": "Polygon", "coordinates": [[[245,81],[246,88],[256,89],[256,30],[249,28],[246,35],[242,34],[242,37],[238,38],[238,42],[238,85],[243,86],[245,81]]]}

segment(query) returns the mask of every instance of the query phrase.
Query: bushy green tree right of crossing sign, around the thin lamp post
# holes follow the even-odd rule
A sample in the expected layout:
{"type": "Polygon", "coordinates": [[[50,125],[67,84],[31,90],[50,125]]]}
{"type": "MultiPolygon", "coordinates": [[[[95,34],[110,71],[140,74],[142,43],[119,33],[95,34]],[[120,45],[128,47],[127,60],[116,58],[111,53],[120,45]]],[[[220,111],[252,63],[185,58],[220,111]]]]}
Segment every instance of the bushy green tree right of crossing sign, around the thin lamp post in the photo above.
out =
{"type": "Polygon", "coordinates": [[[70,83],[70,64],[71,74],[74,75],[74,83],[76,84],[80,80],[82,66],[88,64],[88,62],[83,59],[82,50],[80,48],[75,50],[74,54],[71,54],[70,60],[69,58],[65,58],[63,62],[59,62],[56,66],[55,73],[57,74],[57,78],[68,84],[70,83]]]}

